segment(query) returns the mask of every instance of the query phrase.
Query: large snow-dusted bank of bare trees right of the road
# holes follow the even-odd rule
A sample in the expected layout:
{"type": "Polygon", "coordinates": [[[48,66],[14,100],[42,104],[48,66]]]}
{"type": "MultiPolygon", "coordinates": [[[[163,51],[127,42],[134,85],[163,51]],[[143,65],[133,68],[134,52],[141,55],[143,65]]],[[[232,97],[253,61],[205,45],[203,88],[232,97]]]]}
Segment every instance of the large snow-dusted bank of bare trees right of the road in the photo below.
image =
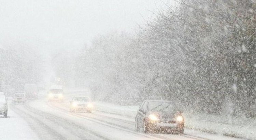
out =
{"type": "Polygon", "coordinates": [[[88,84],[97,100],[166,99],[198,112],[255,117],[256,1],[177,3],[136,34],[101,35],[74,54],[76,85],[88,84]]]}

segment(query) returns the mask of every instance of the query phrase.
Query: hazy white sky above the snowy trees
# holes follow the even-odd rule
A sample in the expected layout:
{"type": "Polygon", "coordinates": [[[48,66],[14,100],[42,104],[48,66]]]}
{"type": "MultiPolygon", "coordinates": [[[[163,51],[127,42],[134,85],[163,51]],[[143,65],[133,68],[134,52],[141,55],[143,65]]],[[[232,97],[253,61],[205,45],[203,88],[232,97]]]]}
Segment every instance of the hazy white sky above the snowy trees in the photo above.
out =
{"type": "Polygon", "coordinates": [[[132,31],[163,3],[170,0],[0,0],[0,44],[82,46],[97,34],[132,31]]]}

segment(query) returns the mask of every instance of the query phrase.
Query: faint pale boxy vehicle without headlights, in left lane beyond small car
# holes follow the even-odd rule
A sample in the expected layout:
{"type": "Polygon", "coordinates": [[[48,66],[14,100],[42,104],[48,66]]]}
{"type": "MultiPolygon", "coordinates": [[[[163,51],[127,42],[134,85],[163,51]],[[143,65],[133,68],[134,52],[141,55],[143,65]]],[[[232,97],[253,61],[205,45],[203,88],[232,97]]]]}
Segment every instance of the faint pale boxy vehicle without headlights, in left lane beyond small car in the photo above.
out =
{"type": "Polygon", "coordinates": [[[38,98],[38,87],[36,84],[25,84],[25,95],[27,99],[37,99],[38,98]]]}

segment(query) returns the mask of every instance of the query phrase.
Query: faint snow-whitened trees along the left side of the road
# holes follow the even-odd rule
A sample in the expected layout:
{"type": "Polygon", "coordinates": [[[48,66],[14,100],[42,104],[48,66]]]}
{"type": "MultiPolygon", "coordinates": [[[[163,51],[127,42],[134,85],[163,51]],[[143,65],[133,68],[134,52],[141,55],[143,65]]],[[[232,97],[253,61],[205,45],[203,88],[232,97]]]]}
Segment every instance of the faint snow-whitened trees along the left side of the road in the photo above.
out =
{"type": "Polygon", "coordinates": [[[22,92],[26,83],[42,80],[42,60],[36,50],[20,42],[0,46],[0,90],[8,96],[22,92]]]}

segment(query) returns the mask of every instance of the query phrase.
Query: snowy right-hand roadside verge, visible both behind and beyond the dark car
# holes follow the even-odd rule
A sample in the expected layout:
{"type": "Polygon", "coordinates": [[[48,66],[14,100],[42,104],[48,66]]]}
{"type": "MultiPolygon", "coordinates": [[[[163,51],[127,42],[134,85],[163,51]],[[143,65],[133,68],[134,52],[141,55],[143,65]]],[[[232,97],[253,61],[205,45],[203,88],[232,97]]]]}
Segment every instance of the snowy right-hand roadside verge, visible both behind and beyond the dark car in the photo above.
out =
{"type": "MultiPolygon", "coordinates": [[[[135,118],[139,106],[119,106],[112,103],[96,102],[95,108],[101,112],[135,118]]],[[[256,140],[256,120],[248,118],[230,118],[219,115],[191,114],[184,112],[185,127],[202,132],[224,136],[256,140]]]]}

